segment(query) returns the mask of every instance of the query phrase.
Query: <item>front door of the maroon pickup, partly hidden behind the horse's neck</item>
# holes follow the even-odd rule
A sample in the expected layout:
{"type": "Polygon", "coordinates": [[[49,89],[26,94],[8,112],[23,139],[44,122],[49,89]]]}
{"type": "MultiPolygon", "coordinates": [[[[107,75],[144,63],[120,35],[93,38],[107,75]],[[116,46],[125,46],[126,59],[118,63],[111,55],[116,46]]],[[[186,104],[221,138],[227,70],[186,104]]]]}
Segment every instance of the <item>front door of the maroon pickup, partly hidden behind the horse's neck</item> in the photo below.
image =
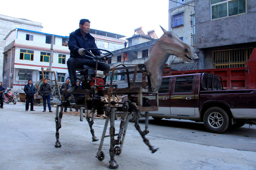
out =
{"type": "MultiPolygon", "coordinates": [[[[170,77],[163,77],[162,79],[162,84],[158,90],[158,102],[159,102],[159,107],[158,111],[155,112],[150,112],[154,114],[171,114],[170,112],[170,93],[169,93],[169,88],[170,88],[170,77]]],[[[148,97],[151,106],[156,105],[156,100],[155,100],[155,95],[149,95],[152,97],[148,97]]]]}

